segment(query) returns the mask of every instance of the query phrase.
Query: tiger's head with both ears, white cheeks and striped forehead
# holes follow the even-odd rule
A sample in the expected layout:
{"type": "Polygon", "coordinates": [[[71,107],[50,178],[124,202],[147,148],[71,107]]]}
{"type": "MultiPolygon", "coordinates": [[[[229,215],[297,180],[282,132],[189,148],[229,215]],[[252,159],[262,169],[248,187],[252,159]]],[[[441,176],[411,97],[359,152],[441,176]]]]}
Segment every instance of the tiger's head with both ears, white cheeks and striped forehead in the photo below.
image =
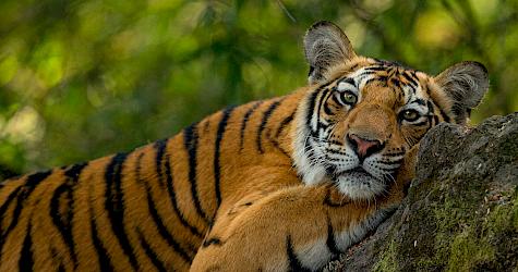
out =
{"type": "Polygon", "coordinates": [[[304,37],[310,76],[294,129],[294,163],[308,185],[333,182],[353,200],[388,190],[420,139],[441,122],[465,124],[489,88],[478,62],[437,76],[357,55],[336,25],[304,37]]]}

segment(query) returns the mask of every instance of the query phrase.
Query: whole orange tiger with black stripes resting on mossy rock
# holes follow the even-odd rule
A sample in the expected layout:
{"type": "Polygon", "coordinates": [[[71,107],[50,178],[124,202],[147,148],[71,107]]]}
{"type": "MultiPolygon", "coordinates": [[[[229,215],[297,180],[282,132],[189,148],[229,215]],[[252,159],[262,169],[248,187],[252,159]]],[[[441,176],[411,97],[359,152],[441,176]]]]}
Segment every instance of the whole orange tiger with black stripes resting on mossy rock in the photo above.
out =
{"type": "Polygon", "coordinates": [[[171,138],[0,185],[0,271],[315,271],[374,231],[425,133],[466,124],[483,64],[431,76],[361,57],[326,21],[309,82],[171,138]]]}

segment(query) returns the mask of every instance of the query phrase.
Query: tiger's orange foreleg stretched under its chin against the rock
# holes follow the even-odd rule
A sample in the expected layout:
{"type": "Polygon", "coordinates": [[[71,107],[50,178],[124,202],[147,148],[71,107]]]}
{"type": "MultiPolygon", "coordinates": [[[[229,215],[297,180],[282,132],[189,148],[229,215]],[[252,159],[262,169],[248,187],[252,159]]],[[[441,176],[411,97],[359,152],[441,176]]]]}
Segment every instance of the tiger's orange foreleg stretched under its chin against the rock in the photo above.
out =
{"type": "Polygon", "coordinates": [[[349,201],[332,186],[296,186],[239,214],[220,214],[191,271],[304,271],[325,265],[376,227],[402,199],[349,201]]]}

